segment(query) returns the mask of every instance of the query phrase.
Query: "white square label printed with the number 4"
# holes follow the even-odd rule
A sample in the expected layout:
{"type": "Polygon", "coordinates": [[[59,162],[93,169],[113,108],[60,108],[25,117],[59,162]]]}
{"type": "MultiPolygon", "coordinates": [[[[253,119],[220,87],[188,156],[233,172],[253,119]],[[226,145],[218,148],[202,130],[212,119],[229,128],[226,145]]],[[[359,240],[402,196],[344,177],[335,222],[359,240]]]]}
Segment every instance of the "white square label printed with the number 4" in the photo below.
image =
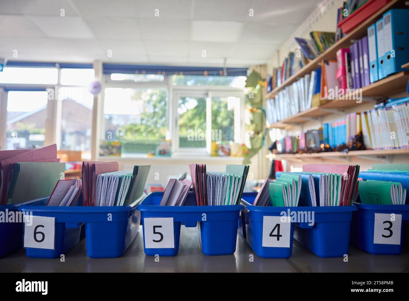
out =
{"type": "Polygon", "coordinates": [[[282,222],[281,216],[263,217],[263,247],[289,248],[291,222],[282,222]]]}

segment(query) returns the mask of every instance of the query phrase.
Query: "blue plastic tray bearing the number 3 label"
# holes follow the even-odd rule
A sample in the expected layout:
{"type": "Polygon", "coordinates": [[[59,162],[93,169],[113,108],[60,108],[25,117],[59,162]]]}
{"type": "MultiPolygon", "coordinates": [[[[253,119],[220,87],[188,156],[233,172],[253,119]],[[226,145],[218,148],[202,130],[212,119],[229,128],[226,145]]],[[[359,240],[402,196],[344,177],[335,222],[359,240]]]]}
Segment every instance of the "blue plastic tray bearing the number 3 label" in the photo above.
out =
{"type": "MultiPolygon", "coordinates": [[[[402,241],[404,235],[408,236],[409,205],[371,205],[354,203],[358,208],[353,213],[351,234],[351,245],[365,250],[371,254],[400,254],[402,253],[402,241]],[[375,213],[402,214],[402,225],[400,229],[400,244],[379,244],[374,242],[375,213]]],[[[385,226],[386,227],[386,226],[385,226]]],[[[389,233],[389,232],[385,232],[389,233]]],[[[405,243],[407,240],[405,241],[405,243]]]]}

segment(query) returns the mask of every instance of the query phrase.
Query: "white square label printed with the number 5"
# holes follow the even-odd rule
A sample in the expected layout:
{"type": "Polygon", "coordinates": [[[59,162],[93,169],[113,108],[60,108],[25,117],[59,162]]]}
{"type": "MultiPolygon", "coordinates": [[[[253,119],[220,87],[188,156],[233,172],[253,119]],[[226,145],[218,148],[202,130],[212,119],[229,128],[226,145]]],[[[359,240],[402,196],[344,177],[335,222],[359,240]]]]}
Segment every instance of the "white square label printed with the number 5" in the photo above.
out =
{"type": "Polygon", "coordinates": [[[147,249],[174,248],[173,218],[144,218],[144,235],[147,249]]]}

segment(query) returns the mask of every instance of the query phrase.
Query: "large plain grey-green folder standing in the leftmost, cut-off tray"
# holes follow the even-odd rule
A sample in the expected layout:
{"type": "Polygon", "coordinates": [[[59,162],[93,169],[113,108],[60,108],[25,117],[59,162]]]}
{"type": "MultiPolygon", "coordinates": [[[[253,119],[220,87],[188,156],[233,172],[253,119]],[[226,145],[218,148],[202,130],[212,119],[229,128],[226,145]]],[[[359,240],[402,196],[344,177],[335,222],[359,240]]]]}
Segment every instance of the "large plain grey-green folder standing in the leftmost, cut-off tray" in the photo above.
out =
{"type": "Polygon", "coordinates": [[[45,198],[63,179],[64,162],[18,162],[14,164],[7,204],[45,198]]]}

